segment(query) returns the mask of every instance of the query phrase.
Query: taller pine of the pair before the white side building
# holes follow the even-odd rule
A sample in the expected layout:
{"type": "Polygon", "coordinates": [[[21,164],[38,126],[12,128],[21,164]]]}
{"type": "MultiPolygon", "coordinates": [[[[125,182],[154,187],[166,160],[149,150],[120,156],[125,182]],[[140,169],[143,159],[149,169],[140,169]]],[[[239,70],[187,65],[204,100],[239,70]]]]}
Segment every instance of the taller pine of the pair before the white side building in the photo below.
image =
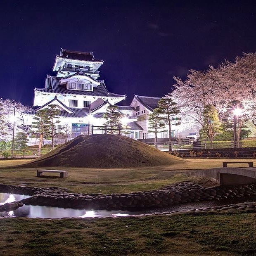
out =
{"type": "Polygon", "coordinates": [[[176,103],[171,99],[171,95],[165,95],[158,102],[158,112],[163,117],[164,122],[169,128],[169,152],[171,152],[171,126],[180,125],[180,118],[177,116],[180,111],[176,103]]]}

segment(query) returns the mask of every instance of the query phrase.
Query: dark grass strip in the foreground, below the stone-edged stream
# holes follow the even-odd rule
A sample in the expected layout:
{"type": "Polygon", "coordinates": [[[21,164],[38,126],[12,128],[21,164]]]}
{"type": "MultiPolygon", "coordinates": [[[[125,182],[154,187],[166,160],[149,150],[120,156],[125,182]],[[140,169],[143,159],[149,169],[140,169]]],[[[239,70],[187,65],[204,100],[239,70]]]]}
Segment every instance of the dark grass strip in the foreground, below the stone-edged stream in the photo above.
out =
{"type": "Polygon", "coordinates": [[[2,255],[254,255],[256,213],[2,219],[2,255]]]}

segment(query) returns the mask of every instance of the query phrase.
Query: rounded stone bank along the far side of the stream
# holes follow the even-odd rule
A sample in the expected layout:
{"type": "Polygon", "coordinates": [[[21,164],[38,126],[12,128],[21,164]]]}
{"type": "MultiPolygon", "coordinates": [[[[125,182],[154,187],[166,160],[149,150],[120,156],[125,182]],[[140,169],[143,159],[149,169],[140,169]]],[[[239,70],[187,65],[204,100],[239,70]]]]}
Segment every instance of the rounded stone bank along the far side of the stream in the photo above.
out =
{"type": "MultiPolygon", "coordinates": [[[[182,182],[167,185],[160,190],[107,195],[75,194],[59,187],[44,188],[0,184],[0,192],[31,195],[31,197],[21,200],[23,204],[73,209],[127,210],[161,208],[187,202],[256,196],[256,184],[208,188],[192,182],[182,182]]],[[[17,204],[14,204],[14,206],[17,207],[17,204]]],[[[10,207],[12,206],[7,205],[7,209],[10,207]]]]}

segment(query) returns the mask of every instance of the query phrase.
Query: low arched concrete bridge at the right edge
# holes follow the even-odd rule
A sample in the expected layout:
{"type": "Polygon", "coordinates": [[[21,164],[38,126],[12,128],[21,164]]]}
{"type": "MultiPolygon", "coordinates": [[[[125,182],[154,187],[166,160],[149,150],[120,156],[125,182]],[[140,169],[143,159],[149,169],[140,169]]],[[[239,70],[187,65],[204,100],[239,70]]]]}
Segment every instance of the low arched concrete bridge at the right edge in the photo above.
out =
{"type": "Polygon", "coordinates": [[[242,185],[256,183],[256,168],[212,168],[199,171],[191,171],[192,176],[211,178],[220,185],[242,185]]]}

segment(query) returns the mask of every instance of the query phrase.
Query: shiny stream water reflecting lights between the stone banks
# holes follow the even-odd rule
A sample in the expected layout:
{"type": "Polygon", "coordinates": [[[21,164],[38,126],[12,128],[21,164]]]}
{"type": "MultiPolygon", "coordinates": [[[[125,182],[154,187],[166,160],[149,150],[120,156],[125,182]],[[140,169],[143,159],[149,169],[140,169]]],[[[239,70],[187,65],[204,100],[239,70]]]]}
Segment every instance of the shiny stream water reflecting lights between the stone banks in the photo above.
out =
{"type": "MultiPolygon", "coordinates": [[[[19,194],[0,193],[0,205],[7,202],[20,201],[29,196],[19,194]]],[[[219,201],[200,201],[191,202],[186,204],[175,204],[164,208],[144,209],[142,211],[107,211],[107,210],[78,210],[78,209],[65,209],[50,206],[34,206],[24,205],[17,210],[9,212],[0,212],[0,216],[13,218],[13,217],[28,217],[28,218],[71,218],[71,217],[117,217],[117,216],[131,216],[138,214],[146,214],[153,212],[165,211],[185,211],[197,208],[206,208],[213,206],[221,206],[225,204],[236,204],[244,201],[256,201],[255,197],[251,198],[236,198],[236,199],[223,199],[219,201]]]]}

